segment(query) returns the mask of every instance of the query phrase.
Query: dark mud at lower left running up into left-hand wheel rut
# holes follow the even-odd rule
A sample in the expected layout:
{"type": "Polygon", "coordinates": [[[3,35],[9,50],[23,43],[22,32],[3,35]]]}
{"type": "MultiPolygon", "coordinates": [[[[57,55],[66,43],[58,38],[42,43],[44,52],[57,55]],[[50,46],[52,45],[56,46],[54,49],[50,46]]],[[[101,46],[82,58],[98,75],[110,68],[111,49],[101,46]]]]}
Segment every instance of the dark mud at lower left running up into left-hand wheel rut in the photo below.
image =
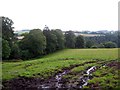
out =
{"type": "MultiPolygon", "coordinates": [[[[50,77],[47,80],[43,80],[40,78],[27,78],[27,77],[19,77],[16,79],[12,79],[10,81],[3,82],[3,90],[19,90],[19,89],[36,89],[36,90],[44,90],[45,88],[73,88],[73,86],[66,86],[66,80],[63,80],[62,77],[70,73],[71,69],[83,66],[88,63],[96,63],[98,61],[88,61],[82,64],[70,65],[70,67],[63,68],[62,71],[57,72],[54,76],[50,77]]],[[[89,68],[90,69],[90,68],[89,68]]],[[[89,70],[88,69],[88,70],[89,70]]],[[[84,80],[82,78],[79,81],[79,84],[82,84],[84,80]]],[[[81,86],[81,85],[80,85],[81,86]]],[[[80,88],[79,86],[79,88],[80,88]]],[[[74,85],[74,88],[78,88],[74,85]]]]}

